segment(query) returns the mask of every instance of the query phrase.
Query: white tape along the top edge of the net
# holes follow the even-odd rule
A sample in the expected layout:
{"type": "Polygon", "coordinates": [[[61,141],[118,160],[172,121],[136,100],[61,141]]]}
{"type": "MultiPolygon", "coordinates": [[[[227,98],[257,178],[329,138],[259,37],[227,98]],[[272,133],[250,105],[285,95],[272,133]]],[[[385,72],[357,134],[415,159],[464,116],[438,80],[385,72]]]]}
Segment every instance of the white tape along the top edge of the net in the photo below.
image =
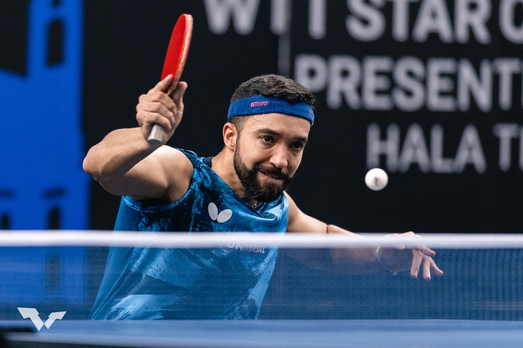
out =
{"type": "Polygon", "coordinates": [[[153,248],[215,248],[248,243],[280,248],[523,248],[523,234],[427,234],[384,237],[384,233],[317,235],[311,233],[183,233],[80,230],[19,230],[0,234],[0,246],[149,246],[153,248]],[[418,236],[416,236],[418,237],[418,236]]]}

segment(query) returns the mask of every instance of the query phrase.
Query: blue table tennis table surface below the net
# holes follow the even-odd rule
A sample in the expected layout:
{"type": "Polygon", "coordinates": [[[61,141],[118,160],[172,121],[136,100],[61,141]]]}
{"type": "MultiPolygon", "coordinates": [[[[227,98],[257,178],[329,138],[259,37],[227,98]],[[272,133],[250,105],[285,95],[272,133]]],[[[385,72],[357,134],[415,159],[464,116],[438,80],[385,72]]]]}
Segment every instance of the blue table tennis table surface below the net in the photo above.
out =
{"type": "MultiPolygon", "coordinates": [[[[20,321],[3,322],[20,329],[20,321]]],[[[469,320],[56,321],[4,347],[523,347],[523,322],[469,320]]]]}

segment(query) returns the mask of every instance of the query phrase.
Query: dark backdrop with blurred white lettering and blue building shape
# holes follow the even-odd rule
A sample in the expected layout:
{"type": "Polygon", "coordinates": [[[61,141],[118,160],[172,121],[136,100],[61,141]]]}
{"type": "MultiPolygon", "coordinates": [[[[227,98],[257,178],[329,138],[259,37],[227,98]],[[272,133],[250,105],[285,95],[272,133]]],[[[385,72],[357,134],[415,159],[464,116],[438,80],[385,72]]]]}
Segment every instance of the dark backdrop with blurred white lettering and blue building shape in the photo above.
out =
{"type": "Polygon", "coordinates": [[[169,145],[215,155],[234,89],[284,74],[318,100],[289,187],[305,213],[356,232],[522,232],[521,0],[2,1],[2,228],[113,228],[119,197],[82,159],[135,127],[182,13],[169,145]],[[382,191],[365,187],[374,167],[382,191]]]}

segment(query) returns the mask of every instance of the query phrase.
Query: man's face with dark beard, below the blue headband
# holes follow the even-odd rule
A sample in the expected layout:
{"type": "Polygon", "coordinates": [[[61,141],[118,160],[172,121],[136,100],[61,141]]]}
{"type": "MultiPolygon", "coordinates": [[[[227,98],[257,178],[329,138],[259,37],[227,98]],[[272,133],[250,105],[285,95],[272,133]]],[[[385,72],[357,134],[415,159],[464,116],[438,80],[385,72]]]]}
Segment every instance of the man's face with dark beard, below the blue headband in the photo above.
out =
{"type": "Polygon", "coordinates": [[[280,113],[245,119],[234,170],[250,198],[269,202],[280,196],[298,169],[309,131],[308,120],[280,113]]]}

